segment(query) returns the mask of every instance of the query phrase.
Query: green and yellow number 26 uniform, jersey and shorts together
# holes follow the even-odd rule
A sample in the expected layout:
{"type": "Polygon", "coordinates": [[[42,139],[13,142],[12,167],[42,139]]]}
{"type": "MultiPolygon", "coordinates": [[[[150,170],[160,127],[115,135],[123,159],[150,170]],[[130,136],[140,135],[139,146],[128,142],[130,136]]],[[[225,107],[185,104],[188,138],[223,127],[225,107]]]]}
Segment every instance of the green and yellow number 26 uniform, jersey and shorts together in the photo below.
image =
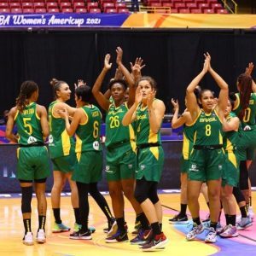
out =
{"type": "Polygon", "coordinates": [[[107,179],[118,181],[133,178],[136,168],[136,144],[132,125],[122,125],[127,103],[115,107],[111,103],[106,116],[107,179]]]}

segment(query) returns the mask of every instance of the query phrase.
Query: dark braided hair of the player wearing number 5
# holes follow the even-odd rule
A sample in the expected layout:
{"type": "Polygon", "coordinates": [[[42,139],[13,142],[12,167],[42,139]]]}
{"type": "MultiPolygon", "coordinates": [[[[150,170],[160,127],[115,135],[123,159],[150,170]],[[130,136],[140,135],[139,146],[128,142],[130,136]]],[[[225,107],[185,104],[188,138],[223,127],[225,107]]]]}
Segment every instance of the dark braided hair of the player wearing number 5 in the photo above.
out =
{"type": "Polygon", "coordinates": [[[16,98],[16,106],[20,112],[23,112],[24,108],[28,104],[28,99],[32,94],[38,90],[38,84],[34,81],[27,80],[20,86],[20,94],[16,98]]]}

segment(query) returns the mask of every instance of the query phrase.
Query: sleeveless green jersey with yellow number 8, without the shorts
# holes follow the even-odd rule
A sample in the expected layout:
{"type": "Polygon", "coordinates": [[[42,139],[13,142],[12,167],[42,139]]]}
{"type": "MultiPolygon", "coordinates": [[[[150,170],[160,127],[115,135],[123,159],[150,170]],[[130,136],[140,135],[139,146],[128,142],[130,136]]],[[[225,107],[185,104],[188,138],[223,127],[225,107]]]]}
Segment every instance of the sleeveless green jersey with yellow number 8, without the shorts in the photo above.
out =
{"type": "Polygon", "coordinates": [[[222,124],[215,110],[205,113],[202,109],[195,119],[194,145],[211,146],[223,144],[222,124]]]}

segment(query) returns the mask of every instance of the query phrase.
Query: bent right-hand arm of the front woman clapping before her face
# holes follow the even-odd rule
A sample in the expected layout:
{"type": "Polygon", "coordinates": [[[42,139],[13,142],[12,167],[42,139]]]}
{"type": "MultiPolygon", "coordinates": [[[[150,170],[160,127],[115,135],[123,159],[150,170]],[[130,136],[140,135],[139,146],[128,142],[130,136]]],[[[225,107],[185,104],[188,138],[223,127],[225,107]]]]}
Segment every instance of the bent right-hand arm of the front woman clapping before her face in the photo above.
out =
{"type": "Polygon", "coordinates": [[[147,105],[150,130],[153,133],[158,133],[166,112],[166,106],[164,102],[154,100],[155,93],[156,91],[153,91],[148,94],[147,105]]]}

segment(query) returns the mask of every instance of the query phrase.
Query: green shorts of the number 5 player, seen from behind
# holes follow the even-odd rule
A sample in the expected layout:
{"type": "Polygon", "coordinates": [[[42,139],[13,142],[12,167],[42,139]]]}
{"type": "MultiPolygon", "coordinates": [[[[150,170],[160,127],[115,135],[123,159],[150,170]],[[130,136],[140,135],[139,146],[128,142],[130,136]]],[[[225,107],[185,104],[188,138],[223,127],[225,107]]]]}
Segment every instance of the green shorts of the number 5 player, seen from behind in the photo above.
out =
{"type": "Polygon", "coordinates": [[[45,146],[17,149],[18,179],[32,181],[49,177],[49,154],[45,146]]]}

